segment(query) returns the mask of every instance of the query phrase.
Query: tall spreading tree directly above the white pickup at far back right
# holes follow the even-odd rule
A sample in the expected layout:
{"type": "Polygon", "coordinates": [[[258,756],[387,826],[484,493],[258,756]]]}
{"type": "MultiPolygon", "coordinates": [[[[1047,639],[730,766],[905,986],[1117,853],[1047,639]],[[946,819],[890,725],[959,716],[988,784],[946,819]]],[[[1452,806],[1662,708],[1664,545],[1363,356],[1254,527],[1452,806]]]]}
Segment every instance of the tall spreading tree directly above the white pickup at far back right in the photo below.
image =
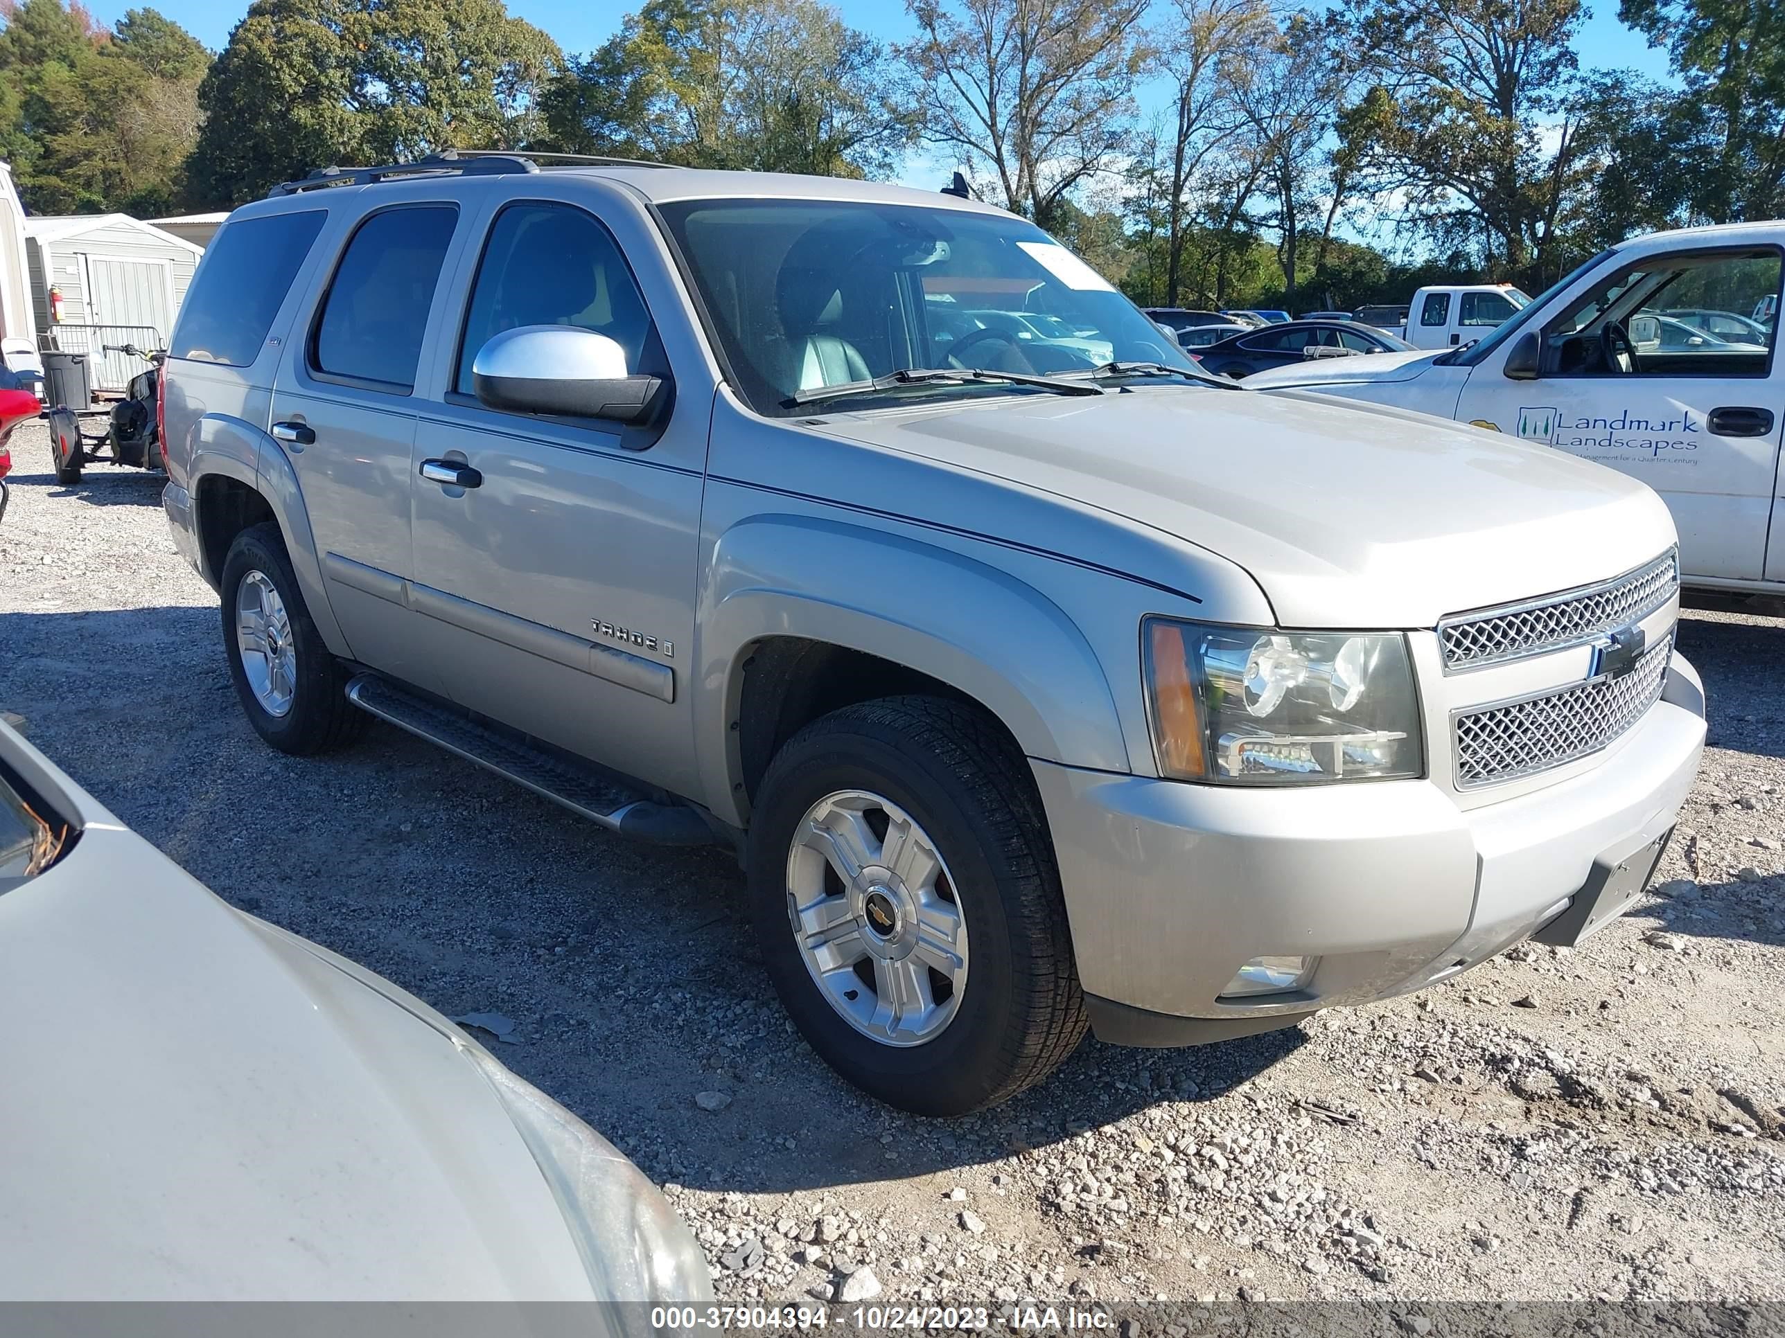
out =
{"type": "Polygon", "coordinates": [[[1346,0],[1367,93],[1339,118],[1364,189],[1439,246],[1540,268],[1583,184],[1573,37],[1582,0],[1346,0]]]}

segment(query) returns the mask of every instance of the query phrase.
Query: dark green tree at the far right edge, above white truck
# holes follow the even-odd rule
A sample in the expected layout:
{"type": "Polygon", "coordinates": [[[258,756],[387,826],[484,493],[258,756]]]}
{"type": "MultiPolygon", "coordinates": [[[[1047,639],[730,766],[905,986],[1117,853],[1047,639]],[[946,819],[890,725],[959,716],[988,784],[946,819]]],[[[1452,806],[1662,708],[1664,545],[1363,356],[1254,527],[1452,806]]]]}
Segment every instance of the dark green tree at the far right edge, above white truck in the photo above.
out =
{"type": "Polygon", "coordinates": [[[1673,171],[1692,178],[1694,212],[1717,223],[1785,212],[1785,4],[1621,0],[1617,14],[1665,46],[1685,82],[1669,98],[1698,146],[1673,171]]]}

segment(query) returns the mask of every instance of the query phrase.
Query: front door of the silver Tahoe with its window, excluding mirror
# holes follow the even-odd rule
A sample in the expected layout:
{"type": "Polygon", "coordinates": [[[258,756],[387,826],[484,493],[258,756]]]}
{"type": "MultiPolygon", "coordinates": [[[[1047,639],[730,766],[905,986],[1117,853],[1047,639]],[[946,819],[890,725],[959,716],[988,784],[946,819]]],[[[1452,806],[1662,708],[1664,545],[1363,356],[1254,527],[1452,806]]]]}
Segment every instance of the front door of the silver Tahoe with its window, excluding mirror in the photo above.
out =
{"type": "Polygon", "coordinates": [[[580,205],[523,200],[489,225],[446,391],[409,464],[412,601],[461,705],[678,794],[696,792],[694,558],[709,401],[652,426],[543,419],[478,403],[493,335],[577,325],[630,371],[669,375],[609,230],[580,205]],[[423,473],[434,475],[430,478],[423,473]],[[468,469],[466,485],[434,482],[468,469]]]}

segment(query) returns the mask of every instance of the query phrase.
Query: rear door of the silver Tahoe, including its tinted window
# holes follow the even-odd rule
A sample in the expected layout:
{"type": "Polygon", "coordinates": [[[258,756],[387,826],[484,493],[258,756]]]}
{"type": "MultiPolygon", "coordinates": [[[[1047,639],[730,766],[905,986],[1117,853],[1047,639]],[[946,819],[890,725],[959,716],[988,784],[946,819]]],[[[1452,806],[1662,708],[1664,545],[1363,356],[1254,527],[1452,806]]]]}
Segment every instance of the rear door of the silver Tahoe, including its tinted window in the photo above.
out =
{"type": "Polygon", "coordinates": [[[271,435],[298,475],[353,658],[430,690],[436,665],[416,651],[407,591],[409,451],[416,371],[457,219],[441,200],[357,219],[318,278],[273,392],[271,435]]]}

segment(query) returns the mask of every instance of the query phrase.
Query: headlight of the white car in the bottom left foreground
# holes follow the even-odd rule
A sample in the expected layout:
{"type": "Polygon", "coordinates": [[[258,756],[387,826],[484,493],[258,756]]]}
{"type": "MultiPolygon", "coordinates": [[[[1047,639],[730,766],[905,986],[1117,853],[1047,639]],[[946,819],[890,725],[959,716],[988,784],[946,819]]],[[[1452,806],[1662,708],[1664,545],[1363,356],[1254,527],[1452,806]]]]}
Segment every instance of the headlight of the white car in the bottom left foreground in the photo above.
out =
{"type": "MultiPolygon", "coordinates": [[[[644,1172],[532,1083],[478,1049],[462,1053],[496,1088],[539,1163],[600,1301],[712,1301],[707,1256],[644,1172]]],[[[639,1320],[623,1329],[650,1333],[641,1306],[623,1315],[639,1320]]]]}

